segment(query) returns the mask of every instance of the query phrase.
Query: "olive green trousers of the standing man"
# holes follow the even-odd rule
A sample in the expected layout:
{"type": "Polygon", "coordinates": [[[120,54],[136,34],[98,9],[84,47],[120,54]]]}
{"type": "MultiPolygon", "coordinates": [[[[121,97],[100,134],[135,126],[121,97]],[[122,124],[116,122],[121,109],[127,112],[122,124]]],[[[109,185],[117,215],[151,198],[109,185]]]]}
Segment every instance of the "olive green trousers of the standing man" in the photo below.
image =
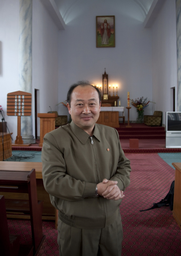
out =
{"type": "Polygon", "coordinates": [[[121,216],[102,229],[80,229],[58,220],[60,256],[121,256],[121,216]]]}

